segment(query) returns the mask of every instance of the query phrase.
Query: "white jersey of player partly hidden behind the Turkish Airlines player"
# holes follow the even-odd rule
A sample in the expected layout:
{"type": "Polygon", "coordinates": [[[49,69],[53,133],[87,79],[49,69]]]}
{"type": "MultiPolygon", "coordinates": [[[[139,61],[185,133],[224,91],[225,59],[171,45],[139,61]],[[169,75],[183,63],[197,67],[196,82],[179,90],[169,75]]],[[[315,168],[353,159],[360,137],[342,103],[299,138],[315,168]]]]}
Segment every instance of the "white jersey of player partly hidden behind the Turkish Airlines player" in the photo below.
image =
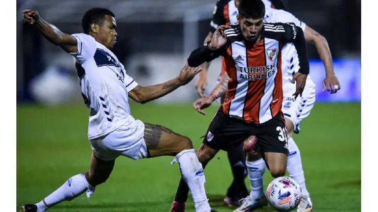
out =
{"type": "MultiPolygon", "coordinates": [[[[266,6],[266,8],[268,8],[266,6]]],[[[266,23],[275,23],[275,22],[282,22],[282,23],[294,23],[295,25],[299,26],[303,32],[306,28],[306,24],[298,18],[296,18],[291,13],[285,10],[276,10],[273,8],[268,8],[265,13],[264,22],[266,23]]],[[[293,75],[295,72],[299,70],[299,60],[297,55],[297,50],[293,43],[288,43],[282,48],[282,85],[291,84],[291,80],[293,79],[293,75]]],[[[293,85],[293,84],[291,84],[293,85]]],[[[313,81],[311,80],[310,75],[307,77],[306,87],[315,86],[313,81]]],[[[285,90],[285,89],[284,89],[285,90]]]]}

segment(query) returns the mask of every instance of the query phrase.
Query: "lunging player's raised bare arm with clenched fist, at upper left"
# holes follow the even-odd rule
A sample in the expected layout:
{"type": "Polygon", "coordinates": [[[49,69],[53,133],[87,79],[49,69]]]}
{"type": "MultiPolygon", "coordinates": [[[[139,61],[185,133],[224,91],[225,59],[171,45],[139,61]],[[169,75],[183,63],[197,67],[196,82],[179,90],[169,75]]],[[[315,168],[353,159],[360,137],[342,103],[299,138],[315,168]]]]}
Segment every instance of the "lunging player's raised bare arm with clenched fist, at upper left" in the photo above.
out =
{"type": "Polygon", "coordinates": [[[34,24],[41,34],[55,45],[61,46],[68,53],[78,52],[78,41],[72,35],[61,32],[56,26],[43,20],[36,10],[28,9],[22,11],[23,21],[34,24]]]}

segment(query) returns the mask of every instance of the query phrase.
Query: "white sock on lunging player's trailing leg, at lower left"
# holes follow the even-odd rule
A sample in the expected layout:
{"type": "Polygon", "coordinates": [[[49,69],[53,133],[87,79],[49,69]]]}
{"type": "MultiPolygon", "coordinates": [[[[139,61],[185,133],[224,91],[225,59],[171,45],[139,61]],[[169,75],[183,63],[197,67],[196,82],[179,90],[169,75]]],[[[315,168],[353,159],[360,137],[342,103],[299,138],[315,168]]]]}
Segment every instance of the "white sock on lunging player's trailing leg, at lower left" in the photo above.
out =
{"type": "Polygon", "coordinates": [[[78,174],[69,178],[59,189],[44,198],[37,203],[38,212],[45,211],[49,207],[52,207],[62,201],[71,201],[84,193],[87,192],[87,198],[95,192],[96,187],[91,187],[85,178],[85,174],[78,174]],[[46,206],[46,203],[48,206],[46,206]]]}

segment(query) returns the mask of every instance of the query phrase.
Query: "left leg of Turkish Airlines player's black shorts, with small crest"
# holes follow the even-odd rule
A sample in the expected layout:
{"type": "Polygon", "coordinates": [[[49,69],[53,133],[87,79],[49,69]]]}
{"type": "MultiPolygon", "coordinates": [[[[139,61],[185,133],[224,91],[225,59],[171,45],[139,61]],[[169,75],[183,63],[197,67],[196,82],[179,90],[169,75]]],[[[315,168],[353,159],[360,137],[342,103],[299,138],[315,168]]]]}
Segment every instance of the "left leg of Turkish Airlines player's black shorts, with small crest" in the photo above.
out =
{"type": "Polygon", "coordinates": [[[212,149],[228,151],[251,136],[250,126],[243,121],[230,118],[219,108],[206,131],[203,144],[212,149]]]}

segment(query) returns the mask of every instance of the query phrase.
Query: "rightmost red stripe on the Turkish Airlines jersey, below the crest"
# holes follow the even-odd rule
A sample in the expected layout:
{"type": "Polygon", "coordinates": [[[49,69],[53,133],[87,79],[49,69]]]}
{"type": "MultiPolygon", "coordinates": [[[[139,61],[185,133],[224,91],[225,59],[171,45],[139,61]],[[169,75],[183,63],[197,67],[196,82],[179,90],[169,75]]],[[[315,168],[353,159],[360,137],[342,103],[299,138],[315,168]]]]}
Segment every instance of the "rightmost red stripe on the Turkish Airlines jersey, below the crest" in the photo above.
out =
{"type": "MultiPolygon", "coordinates": [[[[277,56],[277,74],[274,78],[274,90],[273,90],[273,101],[270,104],[270,110],[272,112],[272,117],[275,117],[280,113],[283,101],[283,91],[282,91],[282,70],[281,70],[281,49],[282,44],[279,44],[278,56],[277,56]],[[278,99],[277,101],[275,101],[278,99]]],[[[282,117],[283,118],[283,117],[282,117]]]]}

